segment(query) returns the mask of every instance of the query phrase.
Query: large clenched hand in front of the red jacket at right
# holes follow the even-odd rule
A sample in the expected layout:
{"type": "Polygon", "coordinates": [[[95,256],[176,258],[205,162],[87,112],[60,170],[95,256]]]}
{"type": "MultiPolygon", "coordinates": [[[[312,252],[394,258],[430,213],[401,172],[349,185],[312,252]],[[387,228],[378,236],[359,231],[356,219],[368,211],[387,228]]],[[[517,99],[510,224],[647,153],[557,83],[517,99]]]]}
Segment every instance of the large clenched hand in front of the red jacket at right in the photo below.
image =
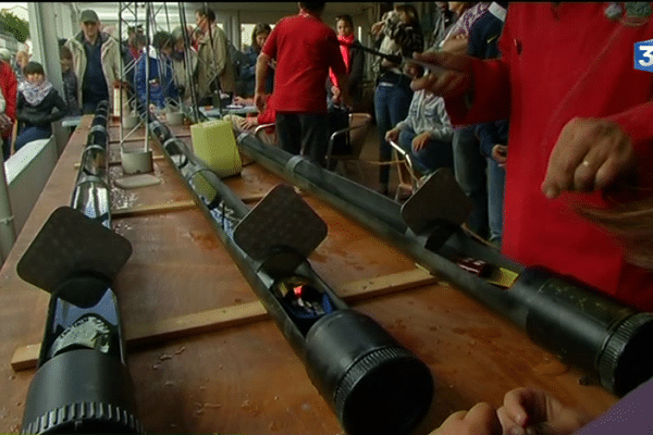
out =
{"type": "Polygon", "coordinates": [[[553,199],[565,190],[603,189],[631,170],[634,158],[630,138],[616,123],[575,117],[551,152],[542,192],[553,199]]]}

